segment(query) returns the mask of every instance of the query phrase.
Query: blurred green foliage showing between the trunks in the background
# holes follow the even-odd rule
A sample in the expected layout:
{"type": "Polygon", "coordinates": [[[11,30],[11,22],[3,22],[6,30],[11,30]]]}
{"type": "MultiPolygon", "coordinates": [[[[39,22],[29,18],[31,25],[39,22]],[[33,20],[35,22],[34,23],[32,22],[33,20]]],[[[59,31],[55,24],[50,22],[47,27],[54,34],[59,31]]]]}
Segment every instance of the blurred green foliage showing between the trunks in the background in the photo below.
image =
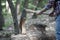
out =
{"type": "MultiPolygon", "coordinates": [[[[40,3],[40,7],[38,9],[41,9],[45,6],[45,4],[47,3],[48,0],[42,0],[42,2],[40,3]]],[[[2,8],[3,8],[3,15],[4,15],[4,18],[7,20],[5,22],[5,27],[9,26],[10,24],[13,23],[12,21],[12,18],[11,18],[11,14],[9,14],[6,10],[6,0],[2,0],[2,8]]],[[[14,6],[16,5],[16,0],[12,0],[14,6]]],[[[24,3],[24,0],[20,0],[20,12],[22,11],[23,9],[23,3],[24,3]]],[[[29,9],[34,9],[36,8],[36,5],[33,5],[33,0],[29,0],[28,2],[28,8],[29,9]]]]}

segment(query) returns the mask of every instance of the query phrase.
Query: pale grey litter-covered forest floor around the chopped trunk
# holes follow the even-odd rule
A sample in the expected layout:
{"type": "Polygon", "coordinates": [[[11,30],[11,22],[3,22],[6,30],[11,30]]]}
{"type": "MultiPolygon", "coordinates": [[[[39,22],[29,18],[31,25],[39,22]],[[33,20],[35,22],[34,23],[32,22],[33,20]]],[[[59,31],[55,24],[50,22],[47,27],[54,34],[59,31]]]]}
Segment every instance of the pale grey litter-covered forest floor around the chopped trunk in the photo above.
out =
{"type": "MultiPolygon", "coordinates": [[[[46,34],[49,36],[52,36],[52,35],[55,36],[55,19],[54,19],[54,17],[49,17],[48,15],[39,15],[38,18],[32,19],[32,15],[33,14],[27,14],[27,19],[25,22],[25,27],[27,30],[26,35],[22,35],[22,34],[12,35],[12,37],[11,37],[12,40],[38,40],[38,38],[41,36],[41,31],[35,29],[35,27],[33,27],[34,30],[31,30],[30,27],[33,24],[47,25],[47,27],[45,29],[46,34]]],[[[18,16],[18,22],[19,21],[20,21],[20,15],[18,16]]],[[[11,32],[13,32],[13,30],[14,30],[13,24],[4,30],[11,30],[11,32]]],[[[7,32],[5,32],[5,33],[7,33],[7,32]]]]}

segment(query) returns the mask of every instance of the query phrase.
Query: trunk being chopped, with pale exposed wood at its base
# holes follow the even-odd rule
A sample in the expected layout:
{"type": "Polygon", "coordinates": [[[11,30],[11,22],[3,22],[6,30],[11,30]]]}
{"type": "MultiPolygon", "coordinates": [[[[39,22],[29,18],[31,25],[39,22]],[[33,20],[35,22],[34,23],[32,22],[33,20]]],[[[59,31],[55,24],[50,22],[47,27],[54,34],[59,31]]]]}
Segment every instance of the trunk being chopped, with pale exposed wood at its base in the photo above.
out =
{"type": "MultiPolygon", "coordinates": [[[[23,7],[27,8],[28,7],[28,0],[24,0],[23,7]]],[[[20,28],[22,34],[26,34],[26,28],[25,28],[25,21],[26,21],[26,10],[23,8],[22,14],[21,14],[21,19],[20,19],[20,28]]]]}

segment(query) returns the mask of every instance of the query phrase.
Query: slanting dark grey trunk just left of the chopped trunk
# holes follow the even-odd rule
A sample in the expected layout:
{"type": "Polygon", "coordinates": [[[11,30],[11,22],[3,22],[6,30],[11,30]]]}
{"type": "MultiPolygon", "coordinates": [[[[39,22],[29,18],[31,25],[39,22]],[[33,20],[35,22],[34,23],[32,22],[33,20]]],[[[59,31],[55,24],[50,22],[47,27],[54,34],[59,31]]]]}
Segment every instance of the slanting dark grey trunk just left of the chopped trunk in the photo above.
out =
{"type": "Polygon", "coordinates": [[[17,20],[17,11],[16,8],[14,7],[12,0],[7,0],[9,3],[9,7],[11,9],[12,12],[12,17],[13,17],[13,21],[14,21],[14,28],[15,28],[15,34],[19,34],[19,27],[18,27],[18,20],[17,20]]]}

